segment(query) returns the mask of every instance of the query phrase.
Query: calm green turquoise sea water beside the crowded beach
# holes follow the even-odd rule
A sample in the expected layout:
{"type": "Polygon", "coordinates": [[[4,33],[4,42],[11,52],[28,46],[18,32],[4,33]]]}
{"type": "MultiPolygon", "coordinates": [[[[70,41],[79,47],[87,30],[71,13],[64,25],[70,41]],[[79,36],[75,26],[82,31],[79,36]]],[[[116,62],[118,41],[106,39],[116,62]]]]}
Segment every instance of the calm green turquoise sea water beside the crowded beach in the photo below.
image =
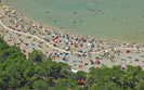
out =
{"type": "Polygon", "coordinates": [[[64,30],[144,42],[144,0],[4,0],[35,21],[64,30]]]}

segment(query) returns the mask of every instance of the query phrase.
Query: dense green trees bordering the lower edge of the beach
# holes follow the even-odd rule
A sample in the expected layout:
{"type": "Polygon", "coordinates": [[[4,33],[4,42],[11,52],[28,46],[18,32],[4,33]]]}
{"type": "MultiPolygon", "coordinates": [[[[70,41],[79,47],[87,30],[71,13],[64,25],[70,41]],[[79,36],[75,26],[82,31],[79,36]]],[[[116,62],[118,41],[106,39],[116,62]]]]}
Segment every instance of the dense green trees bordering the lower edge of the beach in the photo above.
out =
{"type": "Polygon", "coordinates": [[[0,90],[144,90],[141,66],[91,67],[73,73],[65,63],[34,51],[28,59],[0,37],[0,90]]]}

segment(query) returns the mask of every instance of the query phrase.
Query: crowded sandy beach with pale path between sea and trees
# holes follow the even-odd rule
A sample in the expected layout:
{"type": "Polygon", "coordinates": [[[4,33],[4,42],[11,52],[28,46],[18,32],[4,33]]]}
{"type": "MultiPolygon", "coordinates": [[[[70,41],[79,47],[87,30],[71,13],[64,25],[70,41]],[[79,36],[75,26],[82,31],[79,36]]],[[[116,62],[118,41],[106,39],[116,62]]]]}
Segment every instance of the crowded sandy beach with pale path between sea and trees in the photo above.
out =
{"type": "Polygon", "coordinates": [[[0,8],[0,34],[10,46],[17,46],[28,56],[39,50],[55,62],[67,63],[75,70],[90,67],[140,65],[144,67],[144,44],[97,39],[62,31],[29,21],[8,5],[0,8]]]}

